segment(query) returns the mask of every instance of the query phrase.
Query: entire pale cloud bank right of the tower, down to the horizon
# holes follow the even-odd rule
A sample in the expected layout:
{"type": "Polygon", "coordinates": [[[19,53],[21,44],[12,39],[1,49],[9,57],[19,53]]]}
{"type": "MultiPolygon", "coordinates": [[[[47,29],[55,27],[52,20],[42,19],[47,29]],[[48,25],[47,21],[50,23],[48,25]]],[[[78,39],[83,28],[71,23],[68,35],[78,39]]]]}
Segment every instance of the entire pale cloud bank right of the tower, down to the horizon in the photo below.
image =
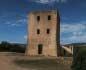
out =
{"type": "Polygon", "coordinates": [[[78,42],[86,42],[86,21],[61,24],[61,43],[78,42]]]}

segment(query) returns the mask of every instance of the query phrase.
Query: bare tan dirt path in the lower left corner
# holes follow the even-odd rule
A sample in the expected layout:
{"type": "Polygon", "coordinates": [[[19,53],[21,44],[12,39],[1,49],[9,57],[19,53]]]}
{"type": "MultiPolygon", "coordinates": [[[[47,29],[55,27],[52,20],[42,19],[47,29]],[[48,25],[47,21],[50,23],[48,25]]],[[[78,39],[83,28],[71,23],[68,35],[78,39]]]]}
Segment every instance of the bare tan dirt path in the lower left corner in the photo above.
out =
{"type": "Polygon", "coordinates": [[[7,53],[0,53],[0,70],[31,70],[15,65],[13,61],[18,57],[19,55],[11,56],[7,53]]]}

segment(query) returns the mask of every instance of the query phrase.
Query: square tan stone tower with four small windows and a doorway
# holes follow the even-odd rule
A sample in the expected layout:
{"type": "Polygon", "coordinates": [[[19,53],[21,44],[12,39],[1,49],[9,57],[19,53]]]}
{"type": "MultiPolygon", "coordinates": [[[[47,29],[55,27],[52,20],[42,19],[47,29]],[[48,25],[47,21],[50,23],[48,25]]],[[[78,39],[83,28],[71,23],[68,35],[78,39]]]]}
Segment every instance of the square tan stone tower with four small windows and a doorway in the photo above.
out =
{"type": "Polygon", "coordinates": [[[60,17],[57,10],[35,11],[28,15],[28,56],[58,56],[60,17]]]}

